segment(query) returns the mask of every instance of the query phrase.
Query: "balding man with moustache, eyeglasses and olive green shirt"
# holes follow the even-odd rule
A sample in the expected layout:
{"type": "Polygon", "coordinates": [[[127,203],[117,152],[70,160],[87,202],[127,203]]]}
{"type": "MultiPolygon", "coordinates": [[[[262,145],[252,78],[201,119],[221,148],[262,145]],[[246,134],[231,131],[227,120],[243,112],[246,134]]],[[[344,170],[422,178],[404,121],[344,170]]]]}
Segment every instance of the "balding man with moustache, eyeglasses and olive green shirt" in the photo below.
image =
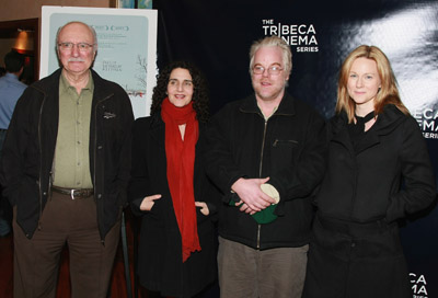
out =
{"type": "Polygon", "coordinates": [[[1,160],[14,208],[14,297],[56,297],[67,244],[71,297],[106,297],[130,167],[132,108],[91,66],[95,31],[58,30],[61,68],[20,98],[1,160]]]}

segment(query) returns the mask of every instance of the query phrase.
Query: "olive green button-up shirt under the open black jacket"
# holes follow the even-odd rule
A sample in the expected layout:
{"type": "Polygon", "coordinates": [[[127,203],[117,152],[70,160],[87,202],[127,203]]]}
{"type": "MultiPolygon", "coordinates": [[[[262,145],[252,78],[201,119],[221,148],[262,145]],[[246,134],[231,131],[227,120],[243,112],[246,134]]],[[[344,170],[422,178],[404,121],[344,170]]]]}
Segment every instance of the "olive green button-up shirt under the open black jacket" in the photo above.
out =
{"type": "Polygon", "coordinates": [[[53,165],[53,184],[68,188],[93,188],[90,174],[90,117],[94,83],[78,94],[61,74],[59,80],[59,123],[53,165]]]}

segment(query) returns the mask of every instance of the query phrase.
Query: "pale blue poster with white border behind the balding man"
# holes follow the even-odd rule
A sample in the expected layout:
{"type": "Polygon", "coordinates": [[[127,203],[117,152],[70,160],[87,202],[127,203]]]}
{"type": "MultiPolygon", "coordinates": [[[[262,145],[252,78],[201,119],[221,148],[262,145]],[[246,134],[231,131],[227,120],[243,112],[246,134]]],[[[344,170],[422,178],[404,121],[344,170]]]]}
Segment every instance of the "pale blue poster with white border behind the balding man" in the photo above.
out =
{"type": "Polygon", "coordinates": [[[136,118],[149,115],[157,74],[157,10],[44,5],[39,78],[59,68],[56,33],[70,21],[95,28],[99,48],[93,69],[127,91],[136,118]]]}

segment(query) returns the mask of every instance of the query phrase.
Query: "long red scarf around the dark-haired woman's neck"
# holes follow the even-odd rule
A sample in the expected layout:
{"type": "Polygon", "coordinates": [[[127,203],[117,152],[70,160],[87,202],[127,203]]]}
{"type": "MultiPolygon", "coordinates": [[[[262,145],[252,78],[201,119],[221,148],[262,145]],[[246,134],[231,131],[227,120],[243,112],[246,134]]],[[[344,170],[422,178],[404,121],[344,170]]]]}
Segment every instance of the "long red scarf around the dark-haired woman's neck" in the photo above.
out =
{"type": "Polygon", "coordinates": [[[183,262],[185,262],[192,252],[200,251],[193,188],[195,146],[199,128],[193,102],[177,107],[166,98],[161,105],[161,117],[165,123],[168,182],[181,232],[183,262]],[[182,124],[185,124],[184,141],[178,127],[182,124]]]}

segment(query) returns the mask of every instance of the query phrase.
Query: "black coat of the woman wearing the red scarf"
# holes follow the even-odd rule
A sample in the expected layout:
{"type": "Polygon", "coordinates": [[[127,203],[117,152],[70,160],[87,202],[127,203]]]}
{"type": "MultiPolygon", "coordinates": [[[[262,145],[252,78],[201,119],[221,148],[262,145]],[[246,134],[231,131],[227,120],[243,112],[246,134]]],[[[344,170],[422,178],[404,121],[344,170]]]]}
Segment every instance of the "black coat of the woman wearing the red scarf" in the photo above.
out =
{"type": "Polygon", "coordinates": [[[214,188],[207,180],[201,159],[204,129],[195,152],[195,200],[207,202],[209,216],[196,208],[200,252],[192,253],[182,262],[181,233],[173,209],[166,177],[165,125],[161,117],[139,118],[132,131],[132,170],[129,200],[132,211],[141,216],[138,274],[140,283],[163,296],[191,297],[217,276],[216,241],[212,214],[214,188]],[[141,200],[161,194],[150,211],[140,211],[141,200]]]}

